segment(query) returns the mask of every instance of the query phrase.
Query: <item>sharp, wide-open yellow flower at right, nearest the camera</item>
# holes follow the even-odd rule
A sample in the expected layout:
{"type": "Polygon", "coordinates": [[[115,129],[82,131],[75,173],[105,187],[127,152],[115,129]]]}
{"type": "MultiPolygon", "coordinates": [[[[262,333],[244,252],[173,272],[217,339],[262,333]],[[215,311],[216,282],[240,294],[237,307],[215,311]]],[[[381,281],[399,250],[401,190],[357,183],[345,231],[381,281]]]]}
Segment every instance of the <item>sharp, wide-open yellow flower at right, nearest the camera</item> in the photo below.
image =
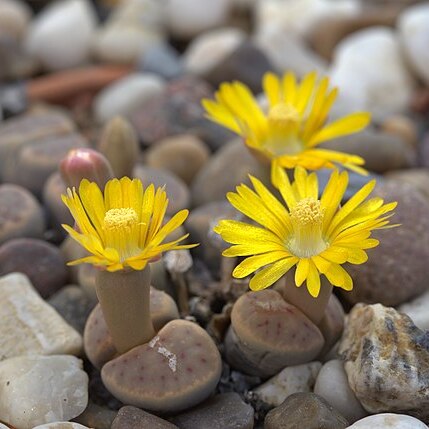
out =
{"type": "Polygon", "coordinates": [[[234,270],[236,278],[246,277],[260,268],[250,280],[252,290],[265,289],[296,265],[295,283],[304,281],[313,297],[320,291],[320,275],[345,290],[353,288],[350,275],[341,266],[363,264],[366,249],[379,244],[370,238],[374,229],[388,228],[388,214],[396,202],[384,204],[381,198],[366,198],[375,180],[363,186],[341,208],[339,204],[348,185],[346,171],[335,170],[321,198],[315,173],[295,169],[291,184],[284,171],[279,175],[279,191],[284,206],[256,178],[251,177],[254,191],[246,185],[230,192],[230,203],[261,226],[235,220],[221,220],[215,227],[228,243],[233,244],[224,256],[245,256],[234,270]]]}

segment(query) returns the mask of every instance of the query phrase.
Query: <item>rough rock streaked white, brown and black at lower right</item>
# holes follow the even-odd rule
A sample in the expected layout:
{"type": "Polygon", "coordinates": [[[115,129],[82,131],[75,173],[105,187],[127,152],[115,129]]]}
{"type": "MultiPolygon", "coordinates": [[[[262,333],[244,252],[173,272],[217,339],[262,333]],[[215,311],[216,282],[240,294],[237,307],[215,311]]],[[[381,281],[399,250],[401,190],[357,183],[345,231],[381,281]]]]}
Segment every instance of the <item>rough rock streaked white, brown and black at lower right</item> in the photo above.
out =
{"type": "Polygon", "coordinates": [[[339,353],[349,385],[369,413],[399,412],[429,421],[429,333],[381,304],[349,313],[339,353]]]}

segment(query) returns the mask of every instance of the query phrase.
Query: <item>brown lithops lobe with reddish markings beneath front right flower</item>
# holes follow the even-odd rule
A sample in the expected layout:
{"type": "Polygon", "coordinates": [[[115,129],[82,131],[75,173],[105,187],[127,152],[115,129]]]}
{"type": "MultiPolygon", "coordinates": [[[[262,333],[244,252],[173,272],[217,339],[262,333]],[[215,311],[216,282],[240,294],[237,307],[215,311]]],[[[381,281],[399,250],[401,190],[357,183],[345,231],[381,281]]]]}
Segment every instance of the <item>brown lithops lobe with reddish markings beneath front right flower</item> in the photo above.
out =
{"type": "Polygon", "coordinates": [[[324,344],[322,333],[275,290],[247,292],[234,304],[225,338],[228,362],[269,377],[289,365],[310,362],[324,344]]]}

